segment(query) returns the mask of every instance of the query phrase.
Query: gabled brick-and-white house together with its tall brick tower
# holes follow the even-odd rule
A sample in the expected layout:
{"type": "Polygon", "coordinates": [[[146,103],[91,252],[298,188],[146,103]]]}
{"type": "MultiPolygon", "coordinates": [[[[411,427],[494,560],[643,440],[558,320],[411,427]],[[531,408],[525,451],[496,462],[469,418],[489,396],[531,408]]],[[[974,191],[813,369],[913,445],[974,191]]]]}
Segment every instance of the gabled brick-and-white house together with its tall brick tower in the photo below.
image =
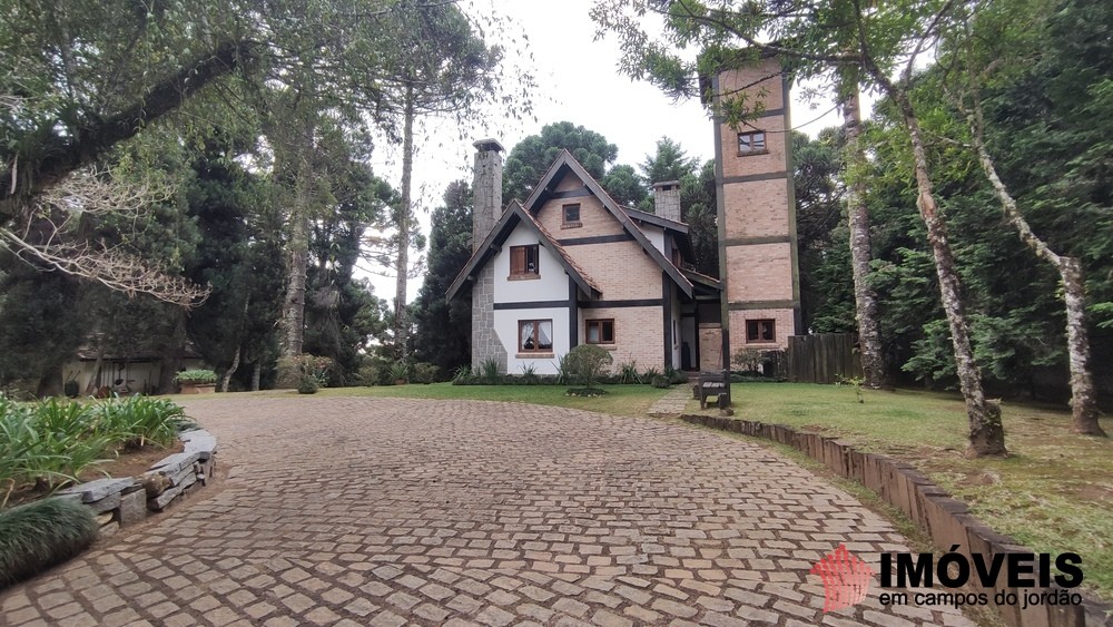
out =
{"type": "Polygon", "coordinates": [[[615,369],[721,370],[800,332],[788,75],[764,56],[709,85],[760,111],[740,126],[715,120],[719,280],[692,271],[677,182],[654,185],[656,213],[639,212],[563,151],[504,210],[502,146],[475,144],[473,254],[449,290],[471,293],[473,369],[554,374],[590,343],[615,369]]]}

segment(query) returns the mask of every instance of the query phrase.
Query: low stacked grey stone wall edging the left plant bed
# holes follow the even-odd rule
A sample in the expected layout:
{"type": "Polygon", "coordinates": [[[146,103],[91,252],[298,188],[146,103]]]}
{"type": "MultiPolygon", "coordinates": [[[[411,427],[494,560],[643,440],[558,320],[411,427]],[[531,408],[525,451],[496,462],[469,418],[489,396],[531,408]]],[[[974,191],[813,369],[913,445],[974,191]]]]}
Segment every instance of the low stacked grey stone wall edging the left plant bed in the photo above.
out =
{"type": "Polygon", "coordinates": [[[151,464],[139,477],[106,478],[59,492],[79,499],[92,509],[100,535],[111,536],[121,527],[141,522],[179,497],[204,487],[216,470],[216,438],[203,429],[180,435],[185,451],[151,464]]]}

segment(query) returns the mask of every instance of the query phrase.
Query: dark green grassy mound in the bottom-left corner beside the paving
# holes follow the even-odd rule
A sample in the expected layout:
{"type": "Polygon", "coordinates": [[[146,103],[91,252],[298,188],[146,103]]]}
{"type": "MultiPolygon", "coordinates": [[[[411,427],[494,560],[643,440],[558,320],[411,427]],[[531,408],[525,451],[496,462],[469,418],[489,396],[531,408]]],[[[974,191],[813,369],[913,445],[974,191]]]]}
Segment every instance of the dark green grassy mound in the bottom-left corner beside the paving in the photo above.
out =
{"type": "Polygon", "coordinates": [[[66,561],[97,539],[92,510],[51,498],[0,512],[0,588],[66,561]]]}

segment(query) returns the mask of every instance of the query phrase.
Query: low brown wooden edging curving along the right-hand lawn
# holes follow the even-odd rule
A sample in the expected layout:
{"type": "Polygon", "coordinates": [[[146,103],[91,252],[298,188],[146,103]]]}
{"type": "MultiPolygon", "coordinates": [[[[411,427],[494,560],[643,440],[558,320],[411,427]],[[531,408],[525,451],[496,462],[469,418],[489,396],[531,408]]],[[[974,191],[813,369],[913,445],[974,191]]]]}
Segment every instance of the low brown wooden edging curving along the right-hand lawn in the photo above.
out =
{"type": "MultiPolygon", "coordinates": [[[[969,558],[981,553],[992,558],[998,553],[1031,553],[1031,549],[1022,546],[1015,539],[997,533],[969,513],[965,502],[954,499],[945,490],[932,483],[912,466],[885,455],[863,453],[847,442],[834,438],[825,438],[817,433],[802,433],[780,424],[766,424],[750,420],[723,418],[715,415],[684,414],[684,422],[702,424],[722,431],[740,433],[772,440],[792,447],[811,459],[823,462],[836,474],[853,479],[874,492],[888,503],[898,508],[916,525],[926,530],[936,546],[944,551],[957,545],[958,551],[969,558]]],[[[1035,570],[1038,571],[1038,565],[1035,570]]],[[[1036,572],[1032,574],[1033,577],[1036,572]]],[[[976,578],[972,579],[976,585],[976,578]]],[[[1008,592],[1057,592],[1062,588],[1052,585],[1048,588],[1009,588],[1008,592]]],[[[987,592],[993,598],[995,590],[987,592]]],[[[1077,594],[1077,592],[1076,592],[1077,594]]],[[[1110,625],[1109,616],[1113,613],[1106,604],[1083,596],[1082,605],[1052,606],[1030,605],[1026,609],[1018,606],[995,605],[1002,619],[1013,627],[1084,627],[1110,625]]]]}

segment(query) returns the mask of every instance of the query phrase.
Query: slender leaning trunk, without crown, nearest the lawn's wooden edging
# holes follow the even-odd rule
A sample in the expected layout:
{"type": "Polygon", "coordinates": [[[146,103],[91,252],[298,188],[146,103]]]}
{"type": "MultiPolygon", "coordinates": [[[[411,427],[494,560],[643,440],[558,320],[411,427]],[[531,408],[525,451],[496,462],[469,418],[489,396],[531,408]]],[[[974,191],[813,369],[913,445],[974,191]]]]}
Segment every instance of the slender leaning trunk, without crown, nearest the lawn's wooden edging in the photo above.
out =
{"type": "Polygon", "coordinates": [[[969,447],[966,453],[971,457],[1005,455],[1005,430],[1001,424],[1001,412],[987,406],[985,391],[982,389],[982,372],[974,359],[971,346],[969,326],[966,324],[966,313],[962,300],[962,281],[955,270],[955,257],[947,239],[946,223],[938,215],[935,195],[932,186],[930,169],[927,165],[927,149],[919,128],[919,119],[913,108],[908,95],[893,84],[881,70],[869,68],[870,75],[885,89],[900,108],[908,136],[912,139],[915,158],[916,188],[918,196],[916,205],[919,216],[927,226],[927,241],[932,245],[935,257],[935,272],[939,277],[939,295],[943,311],[947,315],[951,327],[951,341],[955,352],[955,368],[958,372],[958,385],[966,401],[966,417],[969,420],[969,447]]]}

